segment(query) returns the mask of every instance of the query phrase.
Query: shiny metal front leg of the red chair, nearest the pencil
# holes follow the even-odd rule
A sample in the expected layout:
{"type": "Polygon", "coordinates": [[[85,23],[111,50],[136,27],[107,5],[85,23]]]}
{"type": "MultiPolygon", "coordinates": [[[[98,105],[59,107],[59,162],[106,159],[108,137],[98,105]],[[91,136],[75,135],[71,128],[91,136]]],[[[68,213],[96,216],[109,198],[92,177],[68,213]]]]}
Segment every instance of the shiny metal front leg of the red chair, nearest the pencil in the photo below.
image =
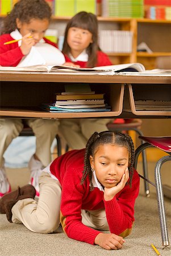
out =
{"type": "Polygon", "coordinates": [[[169,160],[171,160],[170,155],[163,156],[156,163],[156,167],[155,167],[156,195],[157,195],[157,203],[158,203],[158,210],[159,210],[162,246],[164,246],[164,248],[163,248],[164,250],[170,250],[170,247],[169,247],[168,229],[167,229],[167,224],[166,224],[164,195],[163,195],[163,191],[162,191],[160,169],[161,169],[162,164],[169,160]]]}

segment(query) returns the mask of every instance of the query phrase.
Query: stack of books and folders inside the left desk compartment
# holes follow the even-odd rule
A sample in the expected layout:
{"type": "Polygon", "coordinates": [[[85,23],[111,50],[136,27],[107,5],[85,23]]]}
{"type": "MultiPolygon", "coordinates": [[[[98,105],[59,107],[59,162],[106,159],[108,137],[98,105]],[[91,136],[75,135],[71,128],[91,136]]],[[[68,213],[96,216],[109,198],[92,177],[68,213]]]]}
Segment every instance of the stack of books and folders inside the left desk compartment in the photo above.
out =
{"type": "Polygon", "coordinates": [[[44,106],[49,112],[108,112],[104,93],[91,91],[86,85],[65,85],[65,92],[56,93],[55,104],[44,106]]]}

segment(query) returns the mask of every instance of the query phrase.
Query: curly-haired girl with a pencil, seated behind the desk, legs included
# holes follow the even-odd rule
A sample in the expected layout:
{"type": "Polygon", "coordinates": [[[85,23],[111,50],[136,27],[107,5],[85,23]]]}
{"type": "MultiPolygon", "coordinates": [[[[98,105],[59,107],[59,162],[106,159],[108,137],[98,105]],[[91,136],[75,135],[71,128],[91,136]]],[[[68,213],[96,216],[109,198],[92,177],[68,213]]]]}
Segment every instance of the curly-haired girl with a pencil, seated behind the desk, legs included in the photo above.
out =
{"type": "MultiPolygon", "coordinates": [[[[64,64],[64,55],[56,44],[44,38],[50,19],[51,9],[45,0],[17,2],[4,19],[0,37],[0,65],[24,67],[64,64]],[[4,44],[14,39],[19,41],[4,44]]],[[[47,119],[26,119],[25,122],[36,136],[36,152],[29,163],[31,183],[36,188],[39,170],[51,162],[51,144],[58,133],[59,122],[47,119]]],[[[0,197],[10,192],[3,154],[22,129],[22,119],[0,119],[0,197]]]]}

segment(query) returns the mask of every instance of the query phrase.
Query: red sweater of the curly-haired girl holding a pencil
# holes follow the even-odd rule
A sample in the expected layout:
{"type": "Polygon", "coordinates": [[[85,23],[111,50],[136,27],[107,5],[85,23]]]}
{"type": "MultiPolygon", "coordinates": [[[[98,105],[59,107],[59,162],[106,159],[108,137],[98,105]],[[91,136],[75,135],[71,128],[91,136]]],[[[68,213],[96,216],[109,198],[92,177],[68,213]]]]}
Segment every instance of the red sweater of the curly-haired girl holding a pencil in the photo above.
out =
{"type": "MultiPolygon", "coordinates": [[[[52,43],[50,40],[43,38],[46,43],[51,44],[57,48],[55,43],[52,43]]],[[[14,40],[10,34],[3,34],[0,36],[0,65],[1,66],[10,66],[16,67],[19,64],[22,57],[24,57],[18,42],[12,44],[3,45],[3,43],[14,40]]]]}

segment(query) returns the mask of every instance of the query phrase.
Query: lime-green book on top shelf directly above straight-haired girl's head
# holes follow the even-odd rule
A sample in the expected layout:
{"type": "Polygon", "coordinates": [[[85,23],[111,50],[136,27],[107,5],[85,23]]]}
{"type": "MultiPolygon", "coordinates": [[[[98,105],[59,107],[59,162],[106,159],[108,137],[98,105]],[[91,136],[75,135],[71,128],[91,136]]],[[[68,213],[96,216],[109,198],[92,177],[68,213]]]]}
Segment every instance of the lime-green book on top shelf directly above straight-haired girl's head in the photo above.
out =
{"type": "Polygon", "coordinates": [[[95,0],[76,0],[76,13],[80,11],[87,11],[87,13],[96,13],[95,0]]]}

